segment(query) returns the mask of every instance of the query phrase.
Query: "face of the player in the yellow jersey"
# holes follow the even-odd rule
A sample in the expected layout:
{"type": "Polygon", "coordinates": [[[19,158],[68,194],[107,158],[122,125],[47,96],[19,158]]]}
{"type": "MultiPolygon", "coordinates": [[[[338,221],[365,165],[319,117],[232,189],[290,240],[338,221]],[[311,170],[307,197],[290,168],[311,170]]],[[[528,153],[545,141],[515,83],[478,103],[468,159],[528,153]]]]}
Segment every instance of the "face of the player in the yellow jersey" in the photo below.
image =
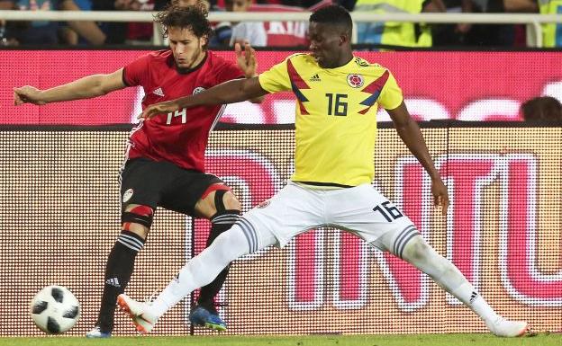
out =
{"type": "Polygon", "coordinates": [[[330,24],[310,22],[308,36],[311,53],[318,65],[323,68],[338,67],[344,44],[340,32],[330,24]]]}

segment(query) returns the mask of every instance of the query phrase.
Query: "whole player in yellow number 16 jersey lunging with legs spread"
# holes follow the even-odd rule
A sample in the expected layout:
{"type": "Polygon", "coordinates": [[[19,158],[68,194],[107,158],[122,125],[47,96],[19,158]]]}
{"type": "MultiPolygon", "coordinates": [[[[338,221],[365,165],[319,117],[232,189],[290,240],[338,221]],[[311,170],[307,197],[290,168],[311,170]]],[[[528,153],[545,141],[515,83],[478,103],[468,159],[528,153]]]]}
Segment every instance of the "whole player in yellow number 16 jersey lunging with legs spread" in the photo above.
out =
{"type": "Polygon", "coordinates": [[[406,110],[394,76],[385,67],[353,56],[351,29],[351,18],[343,7],[323,7],[310,17],[310,54],[295,54],[258,77],[226,82],[143,112],[150,121],[162,112],[241,102],[279,91],[291,90],[296,97],[295,174],[291,181],[187,262],[150,306],[119,296],[118,304],[140,332],[149,333],[160,315],[211,282],[231,261],[269,245],[284,246],[295,235],[320,226],[358,235],[381,251],[412,263],[472,309],[495,335],[528,332],[526,322],[497,315],[457,267],[436,253],[412,221],[371,185],[380,105],[429,173],[435,205],[443,214],[449,206],[447,188],[406,110]]]}

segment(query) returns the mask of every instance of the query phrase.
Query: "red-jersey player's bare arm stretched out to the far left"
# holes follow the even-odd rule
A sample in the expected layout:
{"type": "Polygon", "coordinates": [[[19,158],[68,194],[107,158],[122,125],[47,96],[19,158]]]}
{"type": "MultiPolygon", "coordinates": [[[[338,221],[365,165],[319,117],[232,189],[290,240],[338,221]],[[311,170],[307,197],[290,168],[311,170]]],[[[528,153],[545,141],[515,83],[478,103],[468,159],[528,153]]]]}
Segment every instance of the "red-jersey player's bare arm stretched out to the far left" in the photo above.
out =
{"type": "Polygon", "coordinates": [[[122,79],[123,69],[108,75],[87,75],[68,84],[62,84],[47,90],[39,90],[25,85],[14,88],[14,105],[33,103],[42,105],[50,102],[90,99],[123,89],[127,85],[122,79]]]}

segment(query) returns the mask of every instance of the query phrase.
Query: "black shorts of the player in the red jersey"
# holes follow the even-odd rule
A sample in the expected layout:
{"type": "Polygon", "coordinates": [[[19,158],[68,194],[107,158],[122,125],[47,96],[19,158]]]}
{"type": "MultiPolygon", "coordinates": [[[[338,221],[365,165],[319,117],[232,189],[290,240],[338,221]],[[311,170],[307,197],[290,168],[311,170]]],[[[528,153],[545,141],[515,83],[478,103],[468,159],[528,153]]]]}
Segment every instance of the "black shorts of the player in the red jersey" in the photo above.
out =
{"type": "Polygon", "coordinates": [[[186,170],[169,162],[139,157],[128,160],[121,173],[122,208],[140,204],[194,216],[195,204],[215,183],[213,174],[186,170]]]}

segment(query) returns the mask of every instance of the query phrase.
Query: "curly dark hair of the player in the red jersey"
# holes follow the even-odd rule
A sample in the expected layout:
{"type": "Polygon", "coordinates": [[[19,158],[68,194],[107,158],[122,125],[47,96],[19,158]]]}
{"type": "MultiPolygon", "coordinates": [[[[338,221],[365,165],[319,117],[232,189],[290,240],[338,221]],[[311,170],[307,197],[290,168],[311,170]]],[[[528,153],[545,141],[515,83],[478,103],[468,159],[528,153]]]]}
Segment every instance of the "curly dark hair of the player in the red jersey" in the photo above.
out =
{"type": "Polygon", "coordinates": [[[162,25],[164,36],[168,36],[168,28],[174,27],[189,29],[198,38],[211,37],[213,28],[207,20],[207,14],[207,9],[202,3],[180,7],[172,2],[154,16],[154,21],[162,25]]]}

